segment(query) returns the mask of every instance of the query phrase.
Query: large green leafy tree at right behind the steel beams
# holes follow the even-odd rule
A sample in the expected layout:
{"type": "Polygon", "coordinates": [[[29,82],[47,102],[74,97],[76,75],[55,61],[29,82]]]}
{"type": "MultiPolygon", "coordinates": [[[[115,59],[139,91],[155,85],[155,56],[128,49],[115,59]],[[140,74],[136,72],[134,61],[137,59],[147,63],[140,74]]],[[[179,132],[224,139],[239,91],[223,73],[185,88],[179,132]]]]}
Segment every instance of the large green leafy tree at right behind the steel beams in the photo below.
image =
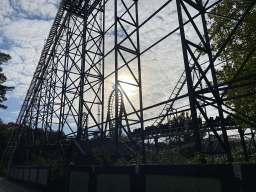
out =
{"type": "MultiPolygon", "coordinates": [[[[212,41],[212,50],[216,53],[228,38],[229,34],[237,24],[238,20],[246,13],[246,10],[253,1],[231,1],[224,0],[211,10],[208,23],[209,36],[212,41]]],[[[243,22],[236,30],[219,59],[224,62],[221,69],[216,71],[219,83],[231,81],[234,78],[240,78],[256,73],[256,6],[250,9],[243,22]],[[248,57],[249,56],[249,57],[248,57]],[[249,58],[247,62],[246,58],[249,58]],[[239,70],[241,68],[241,71],[239,70]],[[238,72],[240,71],[240,72],[238,72]],[[237,73],[238,72],[238,73],[237,73]]],[[[223,98],[229,98],[225,104],[231,106],[236,111],[247,115],[256,121],[256,75],[251,78],[233,83],[242,85],[251,83],[251,85],[242,86],[235,89],[229,89],[223,98]],[[241,95],[248,96],[238,98],[241,95]],[[234,98],[234,99],[232,99],[234,98]]],[[[237,116],[242,116],[235,112],[237,116]]],[[[239,124],[246,127],[243,121],[237,120],[239,124]]]]}

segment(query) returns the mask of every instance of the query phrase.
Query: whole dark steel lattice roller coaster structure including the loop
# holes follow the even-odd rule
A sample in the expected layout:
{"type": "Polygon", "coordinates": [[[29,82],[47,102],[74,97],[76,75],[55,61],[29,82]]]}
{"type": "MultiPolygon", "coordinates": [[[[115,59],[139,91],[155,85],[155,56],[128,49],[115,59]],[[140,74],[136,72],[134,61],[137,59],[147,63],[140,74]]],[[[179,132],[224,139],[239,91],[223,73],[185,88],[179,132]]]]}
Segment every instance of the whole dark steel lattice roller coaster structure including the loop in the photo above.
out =
{"type": "MultiPolygon", "coordinates": [[[[226,100],[222,93],[236,88],[233,83],[253,78],[255,74],[237,78],[240,69],[231,81],[219,84],[215,67],[223,49],[244,22],[245,16],[250,14],[256,1],[243,1],[248,4],[247,10],[237,19],[228,38],[216,53],[211,49],[206,21],[210,10],[222,0],[163,0],[162,6],[152,11],[146,19],[143,18],[142,23],[139,23],[140,2],[143,0],[61,1],[16,122],[19,127],[14,128],[16,134],[13,133],[10,138],[4,158],[15,152],[22,130],[27,126],[33,130],[42,129],[45,133],[57,132],[56,143],[60,144],[63,132],[66,138],[73,137],[76,140],[90,140],[92,136],[99,140],[110,137],[117,149],[119,142],[130,142],[140,151],[143,162],[146,156],[145,139],[168,138],[188,131],[193,133],[194,145],[199,152],[202,152],[201,132],[212,132],[232,161],[227,130],[239,129],[245,158],[248,160],[243,134],[245,130],[229,123],[238,118],[252,128],[255,122],[244,114],[240,114],[243,118],[235,115],[235,109],[224,103],[226,100]],[[157,14],[167,14],[165,8],[170,4],[176,7],[178,27],[169,29],[166,35],[141,51],[140,29],[157,14]],[[110,14],[113,14],[112,20],[109,20],[110,14]],[[187,26],[191,27],[190,32],[193,31],[197,38],[190,38],[186,34],[187,26]],[[154,105],[144,107],[141,56],[175,33],[179,34],[181,40],[184,72],[166,101],[156,101],[154,105]],[[108,34],[113,37],[111,45],[107,44],[108,34]],[[120,79],[124,69],[132,82],[120,79]],[[106,102],[106,81],[109,78],[114,79],[116,86],[106,102]],[[133,101],[125,85],[134,88],[133,101]],[[176,103],[184,98],[189,105],[174,110],[176,103]],[[160,115],[145,119],[145,111],[159,106],[163,106],[160,115]],[[208,106],[217,109],[218,121],[211,120],[207,114],[208,106]],[[185,126],[181,123],[180,127],[171,123],[163,124],[166,118],[171,119],[181,112],[189,112],[189,124],[185,126]],[[226,115],[229,116],[225,118],[226,115]],[[152,120],[152,126],[145,128],[144,123],[152,120]],[[132,126],[137,126],[137,129],[132,130],[132,126]],[[222,137],[217,131],[222,132],[222,137]]],[[[253,55],[255,57],[255,50],[245,58],[244,65],[253,55]]],[[[244,96],[247,95],[241,94],[236,98],[244,96]]],[[[45,137],[40,144],[48,142],[47,134],[45,137]]],[[[251,139],[254,141],[253,132],[251,139]]]]}

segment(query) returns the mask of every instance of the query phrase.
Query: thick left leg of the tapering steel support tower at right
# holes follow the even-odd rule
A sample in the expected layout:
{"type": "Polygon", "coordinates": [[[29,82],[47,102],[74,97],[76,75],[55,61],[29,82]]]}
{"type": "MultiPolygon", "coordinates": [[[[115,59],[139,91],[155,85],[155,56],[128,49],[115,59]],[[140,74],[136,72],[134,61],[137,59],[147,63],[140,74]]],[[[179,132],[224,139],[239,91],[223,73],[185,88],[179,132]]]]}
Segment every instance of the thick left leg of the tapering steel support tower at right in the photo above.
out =
{"type": "Polygon", "coordinates": [[[183,26],[180,0],[176,0],[176,4],[177,4],[177,11],[178,11],[178,20],[179,20],[179,26],[180,26],[182,51],[183,51],[184,65],[186,70],[187,87],[188,87],[189,103],[190,103],[190,110],[191,110],[191,116],[192,116],[192,124],[194,129],[194,136],[195,136],[196,151],[201,152],[202,146],[201,146],[201,140],[200,140],[200,133],[198,130],[197,113],[196,113],[196,107],[195,107],[195,90],[193,89],[193,81],[192,81],[189,62],[188,62],[187,44],[186,44],[185,31],[183,26]]]}

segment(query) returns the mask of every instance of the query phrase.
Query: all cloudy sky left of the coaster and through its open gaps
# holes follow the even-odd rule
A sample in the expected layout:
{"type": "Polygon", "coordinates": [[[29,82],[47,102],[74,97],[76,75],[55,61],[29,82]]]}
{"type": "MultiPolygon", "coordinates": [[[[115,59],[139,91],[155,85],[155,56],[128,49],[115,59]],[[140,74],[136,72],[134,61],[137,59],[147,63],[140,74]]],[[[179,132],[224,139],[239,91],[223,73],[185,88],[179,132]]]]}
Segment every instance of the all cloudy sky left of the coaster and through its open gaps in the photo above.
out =
{"type": "MultiPolygon", "coordinates": [[[[165,0],[140,0],[139,22],[142,23],[165,2],[165,0]]],[[[8,108],[0,109],[0,118],[4,123],[16,122],[59,3],[60,0],[1,0],[0,51],[12,57],[2,66],[8,79],[6,85],[15,87],[12,92],[7,92],[8,100],[3,103],[8,108]]],[[[106,10],[108,11],[106,22],[113,20],[112,4],[110,1],[110,7],[106,10]]],[[[141,51],[169,33],[170,29],[178,27],[177,21],[174,1],[140,29],[141,51]]],[[[185,28],[185,32],[188,39],[197,38],[191,30],[191,25],[185,28]]],[[[113,35],[110,34],[106,41],[109,44],[113,43],[113,35]]],[[[110,46],[106,49],[108,47],[110,46]]],[[[184,71],[180,35],[178,33],[171,35],[143,54],[141,60],[143,106],[147,107],[167,100],[184,71]]],[[[127,77],[124,75],[123,78],[127,77]]],[[[108,79],[106,86],[108,97],[114,87],[113,79],[108,79]]],[[[187,104],[187,101],[179,102],[180,106],[184,104],[187,104]]],[[[156,116],[162,108],[163,106],[160,106],[146,112],[145,118],[156,116]]],[[[209,109],[208,114],[217,115],[214,109],[209,109]]],[[[148,125],[150,123],[146,124],[148,125]]]]}

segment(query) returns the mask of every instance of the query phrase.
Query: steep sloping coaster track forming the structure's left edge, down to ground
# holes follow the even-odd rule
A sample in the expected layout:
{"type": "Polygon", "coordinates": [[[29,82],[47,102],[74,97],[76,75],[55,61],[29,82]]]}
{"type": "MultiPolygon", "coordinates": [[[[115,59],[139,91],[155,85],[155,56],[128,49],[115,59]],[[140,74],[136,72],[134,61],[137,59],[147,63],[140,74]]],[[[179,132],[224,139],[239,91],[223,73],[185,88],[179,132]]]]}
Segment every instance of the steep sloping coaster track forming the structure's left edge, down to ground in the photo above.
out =
{"type": "MultiPolygon", "coordinates": [[[[19,116],[17,118],[16,124],[23,125],[25,124],[26,117],[28,116],[29,110],[33,107],[33,105],[36,103],[40,85],[42,84],[42,81],[45,77],[45,72],[47,71],[48,65],[51,60],[51,55],[53,55],[55,47],[57,45],[58,39],[62,33],[62,30],[64,28],[64,24],[67,20],[67,15],[63,17],[64,14],[64,1],[62,0],[58,9],[58,12],[56,14],[55,20],[53,22],[52,28],[50,30],[48,39],[46,41],[46,44],[44,45],[44,48],[41,53],[41,57],[39,59],[39,63],[37,65],[37,68],[35,70],[35,73],[33,75],[31,84],[29,86],[29,89],[27,91],[26,97],[24,99],[24,102],[22,104],[19,116]],[[61,25],[62,23],[62,25],[61,25]],[[58,28],[60,26],[59,32],[57,34],[58,28]],[[57,36],[56,36],[57,34],[57,36]],[[55,37],[55,39],[54,39],[55,37]],[[55,40],[55,42],[54,42],[55,40]],[[51,51],[50,51],[51,49],[51,51]],[[50,51],[50,53],[49,53],[50,51]],[[50,57],[49,57],[50,55],[50,57]]],[[[15,127],[12,130],[12,136],[16,136],[15,139],[10,137],[10,141],[7,145],[7,150],[5,150],[3,158],[1,161],[4,160],[4,158],[8,158],[11,153],[13,153],[17,147],[18,141],[20,140],[20,137],[22,135],[23,129],[20,127],[15,127]],[[18,129],[18,131],[17,131],[18,129]],[[10,149],[12,152],[10,152],[10,149]]]]}

